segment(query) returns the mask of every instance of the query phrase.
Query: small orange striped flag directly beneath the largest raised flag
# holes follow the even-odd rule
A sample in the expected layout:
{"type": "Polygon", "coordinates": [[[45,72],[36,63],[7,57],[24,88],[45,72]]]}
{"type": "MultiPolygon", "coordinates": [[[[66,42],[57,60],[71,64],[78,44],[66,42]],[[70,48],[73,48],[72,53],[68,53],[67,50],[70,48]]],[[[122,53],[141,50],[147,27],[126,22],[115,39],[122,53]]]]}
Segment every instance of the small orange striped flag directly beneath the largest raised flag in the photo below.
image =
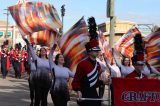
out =
{"type": "Polygon", "coordinates": [[[48,47],[52,46],[53,43],[57,42],[59,39],[59,33],[51,30],[34,32],[31,36],[29,36],[29,41],[31,43],[48,47]]]}

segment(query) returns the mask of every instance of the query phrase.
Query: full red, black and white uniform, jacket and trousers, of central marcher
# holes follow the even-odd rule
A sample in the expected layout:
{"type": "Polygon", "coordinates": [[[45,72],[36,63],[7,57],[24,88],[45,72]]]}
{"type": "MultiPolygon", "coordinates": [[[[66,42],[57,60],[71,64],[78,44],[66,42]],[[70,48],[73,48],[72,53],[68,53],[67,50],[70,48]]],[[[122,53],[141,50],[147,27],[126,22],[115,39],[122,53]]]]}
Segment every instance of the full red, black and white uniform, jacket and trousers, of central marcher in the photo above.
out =
{"type": "MultiPolygon", "coordinates": [[[[96,88],[99,87],[100,64],[87,58],[81,61],[72,82],[75,91],[81,91],[83,98],[99,98],[96,88]]],[[[80,106],[100,106],[98,101],[83,101],[80,106]]]]}

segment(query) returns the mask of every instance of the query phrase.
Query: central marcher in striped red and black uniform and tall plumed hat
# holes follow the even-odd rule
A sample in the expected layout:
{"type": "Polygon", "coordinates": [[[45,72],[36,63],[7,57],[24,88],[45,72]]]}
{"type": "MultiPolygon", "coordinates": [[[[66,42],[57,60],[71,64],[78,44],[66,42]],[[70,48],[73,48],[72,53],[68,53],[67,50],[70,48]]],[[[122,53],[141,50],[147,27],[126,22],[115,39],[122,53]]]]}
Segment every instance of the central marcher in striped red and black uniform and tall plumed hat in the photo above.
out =
{"type": "MultiPolygon", "coordinates": [[[[89,18],[90,41],[85,45],[88,58],[81,61],[76,69],[72,82],[73,90],[77,91],[79,100],[81,98],[99,98],[96,88],[99,87],[100,64],[96,58],[100,47],[97,41],[96,24],[93,17],[89,18]]],[[[78,101],[80,106],[101,106],[101,101],[82,100],[78,101]]]]}

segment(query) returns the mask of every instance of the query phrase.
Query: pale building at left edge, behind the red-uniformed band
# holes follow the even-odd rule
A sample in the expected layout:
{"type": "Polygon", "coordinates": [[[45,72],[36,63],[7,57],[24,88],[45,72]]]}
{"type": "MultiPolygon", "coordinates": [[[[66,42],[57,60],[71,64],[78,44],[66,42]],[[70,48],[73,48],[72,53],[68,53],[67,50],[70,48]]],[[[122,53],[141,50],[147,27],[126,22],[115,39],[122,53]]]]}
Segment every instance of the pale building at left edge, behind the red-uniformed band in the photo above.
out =
{"type": "Polygon", "coordinates": [[[15,25],[9,24],[7,33],[6,30],[7,22],[0,20],[0,45],[2,45],[5,40],[8,40],[9,45],[12,47],[14,47],[16,43],[21,43],[22,46],[25,44],[18,28],[15,25]]]}

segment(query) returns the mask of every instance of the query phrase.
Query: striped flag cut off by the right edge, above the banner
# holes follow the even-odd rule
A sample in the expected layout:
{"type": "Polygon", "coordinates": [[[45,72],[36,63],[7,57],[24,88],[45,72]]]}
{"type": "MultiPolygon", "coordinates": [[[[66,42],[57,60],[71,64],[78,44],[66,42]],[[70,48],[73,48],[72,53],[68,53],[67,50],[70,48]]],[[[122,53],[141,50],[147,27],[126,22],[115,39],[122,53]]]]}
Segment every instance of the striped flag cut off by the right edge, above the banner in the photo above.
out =
{"type": "Polygon", "coordinates": [[[146,36],[144,41],[148,63],[160,72],[160,31],[146,36]]]}

